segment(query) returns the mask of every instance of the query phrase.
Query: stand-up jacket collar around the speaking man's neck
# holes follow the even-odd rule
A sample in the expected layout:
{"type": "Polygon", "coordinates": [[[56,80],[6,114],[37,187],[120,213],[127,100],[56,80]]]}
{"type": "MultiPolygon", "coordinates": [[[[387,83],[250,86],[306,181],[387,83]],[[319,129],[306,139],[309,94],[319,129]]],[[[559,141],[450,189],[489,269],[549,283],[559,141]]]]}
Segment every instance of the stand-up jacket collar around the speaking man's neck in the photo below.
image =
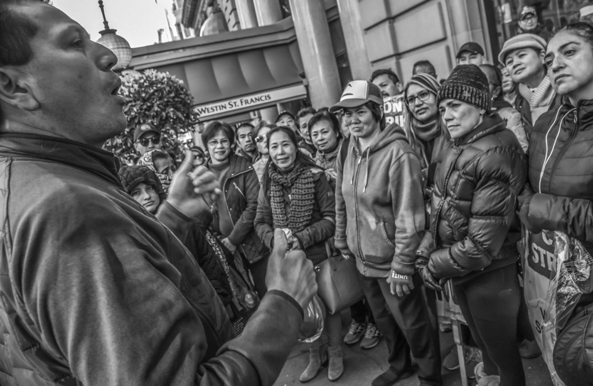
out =
{"type": "Polygon", "coordinates": [[[117,176],[119,159],[111,152],[82,142],[45,135],[0,133],[0,157],[58,162],[122,186],[117,176]]]}

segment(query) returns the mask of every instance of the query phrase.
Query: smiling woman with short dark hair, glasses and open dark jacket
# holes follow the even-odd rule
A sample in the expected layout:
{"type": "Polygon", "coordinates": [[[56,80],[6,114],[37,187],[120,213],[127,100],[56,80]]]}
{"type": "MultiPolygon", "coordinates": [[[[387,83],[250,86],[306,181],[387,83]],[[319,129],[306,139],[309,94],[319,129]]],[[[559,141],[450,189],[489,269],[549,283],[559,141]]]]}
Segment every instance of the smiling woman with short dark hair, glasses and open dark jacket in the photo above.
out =
{"type": "Polygon", "coordinates": [[[269,251],[253,228],[259,193],[257,175],[247,158],[232,154],[234,131],[227,123],[208,123],[202,141],[210,154],[206,167],[215,174],[223,192],[212,213],[212,229],[223,237],[222,243],[229,251],[247,260],[257,293],[263,296],[269,251]]]}

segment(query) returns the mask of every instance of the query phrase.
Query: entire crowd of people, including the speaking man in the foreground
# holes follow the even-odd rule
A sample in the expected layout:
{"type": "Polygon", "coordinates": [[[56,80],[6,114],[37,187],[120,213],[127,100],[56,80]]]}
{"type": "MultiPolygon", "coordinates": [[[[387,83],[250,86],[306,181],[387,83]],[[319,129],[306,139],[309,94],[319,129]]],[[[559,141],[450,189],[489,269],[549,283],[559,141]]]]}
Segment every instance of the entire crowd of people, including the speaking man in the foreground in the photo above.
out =
{"type": "MultiPolygon", "coordinates": [[[[476,347],[468,377],[525,385],[540,350],[520,246],[562,232],[593,253],[593,26],[542,36],[525,8],[497,64],[468,42],[441,81],[421,60],[329,107],[209,122],[181,163],[143,123],[122,167],[100,149],[126,125],[113,53],[46,2],[0,3],[0,384],[271,385],[313,267],[343,256],[364,299],[346,334],[324,314],[301,382],[326,363],[336,381],[343,345],[384,339],[373,386],[441,385],[459,366],[441,358],[444,292],[476,347]],[[396,95],[403,126],[386,123],[396,95]]],[[[580,294],[566,319],[592,311],[580,294]]],[[[590,345],[570,344],[553,376],[591,384],[590,345]]]]}

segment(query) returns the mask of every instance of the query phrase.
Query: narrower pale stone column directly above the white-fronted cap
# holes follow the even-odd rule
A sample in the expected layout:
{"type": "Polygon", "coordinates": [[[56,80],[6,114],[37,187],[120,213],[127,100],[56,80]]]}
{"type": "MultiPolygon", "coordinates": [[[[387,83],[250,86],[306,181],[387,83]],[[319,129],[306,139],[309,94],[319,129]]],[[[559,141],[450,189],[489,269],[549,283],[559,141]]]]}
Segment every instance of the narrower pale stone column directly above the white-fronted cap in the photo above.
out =
{"type": "Polygon", "coordinates": [[[353,79],[368,79],[371,76],[371,62],[366,53],[361,28],[361,9],[358,0],[337,0],[340,23],[346,42],[348,62],[353,79]]]}

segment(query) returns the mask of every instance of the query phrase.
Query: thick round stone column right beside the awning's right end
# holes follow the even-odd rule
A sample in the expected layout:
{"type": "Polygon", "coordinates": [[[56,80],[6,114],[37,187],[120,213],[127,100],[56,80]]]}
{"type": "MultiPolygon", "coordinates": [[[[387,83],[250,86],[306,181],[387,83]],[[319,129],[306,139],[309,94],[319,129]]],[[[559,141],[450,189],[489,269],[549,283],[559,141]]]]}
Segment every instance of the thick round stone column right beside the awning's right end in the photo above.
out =
{"type": "Polygon", "coordinates": [[[323,1],[291,0],[291,11],[311,104],[331,106],[342,90],[323,1]]]}

